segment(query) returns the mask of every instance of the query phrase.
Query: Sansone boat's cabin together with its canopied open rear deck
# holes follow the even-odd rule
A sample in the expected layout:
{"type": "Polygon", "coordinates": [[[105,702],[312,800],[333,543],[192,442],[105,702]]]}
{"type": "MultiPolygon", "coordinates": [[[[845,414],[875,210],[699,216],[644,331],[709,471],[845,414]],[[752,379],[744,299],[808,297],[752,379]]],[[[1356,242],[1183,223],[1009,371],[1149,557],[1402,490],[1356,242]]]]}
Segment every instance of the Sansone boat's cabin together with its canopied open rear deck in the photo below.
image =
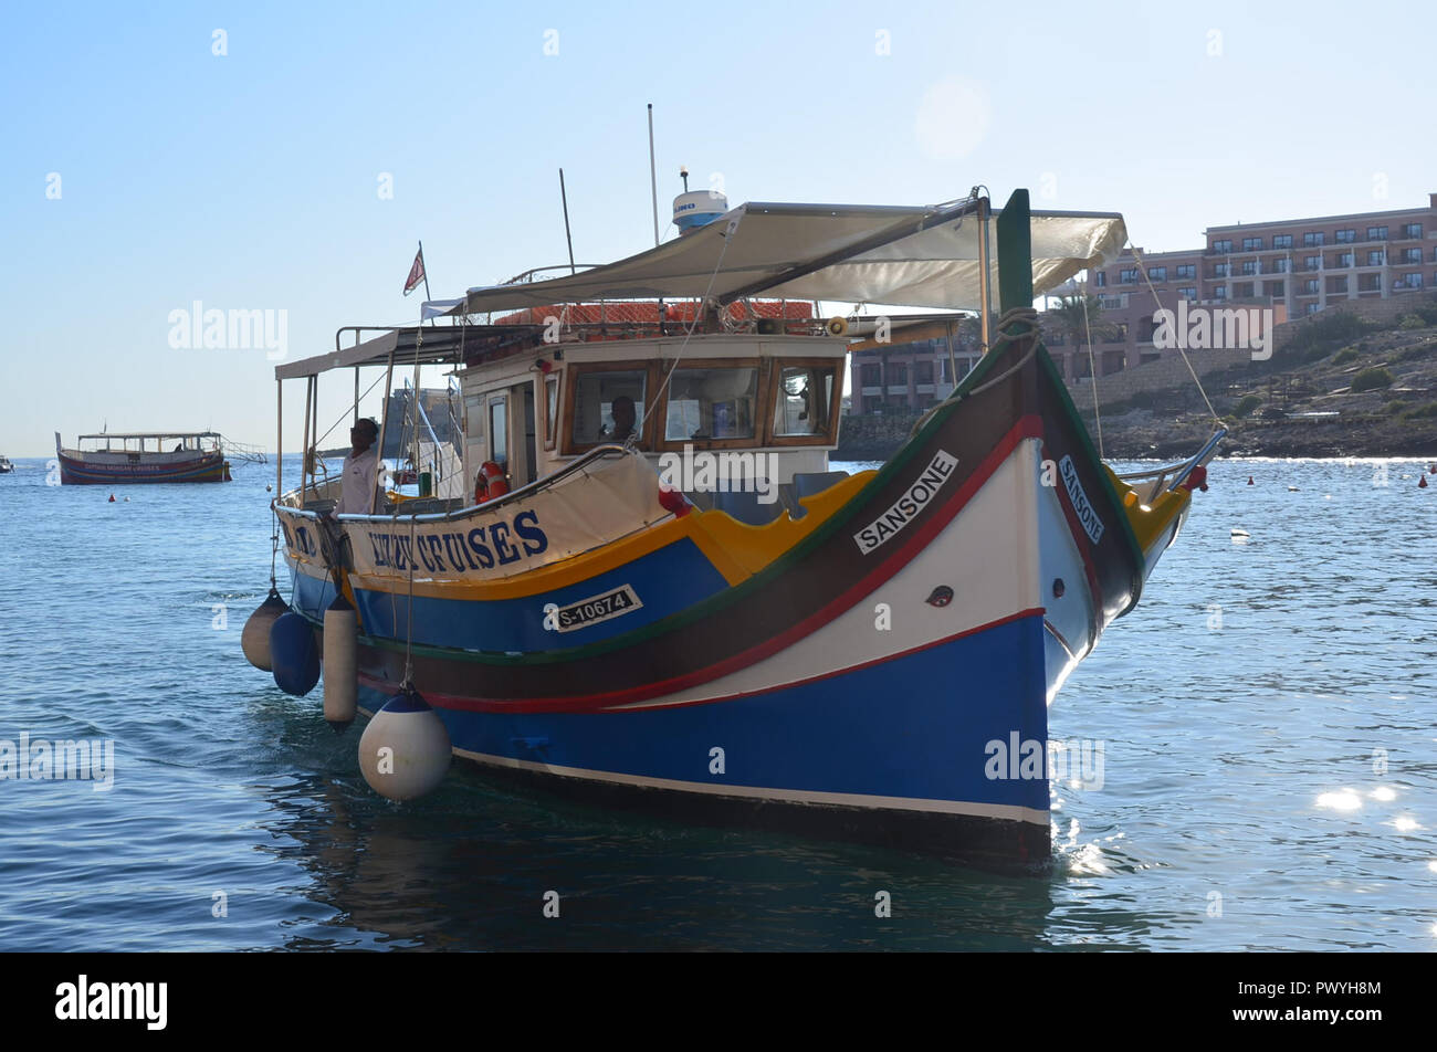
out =
{"type": "MultiPolygon", "coordinates": [[[[785,507],[802,513],[796,496],[832,481],[828,454],[838,444],[848,341],[815,318],[812,303],[744,303],[747,320],[736,320],[736,310],[727,322],[710,316],[697,325],[691,308],[611,303],[592,308],[593,320],[569,322],[585,313],[570,305],[490,325],[391,329],[276,372],[313,384],[318,372],[343,366],[388,366],[391,377],[415,364],[450,368],[463,405],[464,484],[437,486],[438,496],[391,492],[378,513],[399,502],[420,513],[451,512],[486,497],[476,493],[481,476],[517,490],[601,446],[637,448],[700,507],[753,523],[785,507]],[[644,308],[648,320],[632,320],[644,308]]],[[[310,389],[306,447],[315,402],[310,389]]],[[[391,408],[381,421],[379,441],[391,454],[394,435],[411,425],[397,415],[404,414],[391,408]]],[[[302,504],[332,506],[338,479],[315,471],[323,476],[306,464],[302,504]]]]}

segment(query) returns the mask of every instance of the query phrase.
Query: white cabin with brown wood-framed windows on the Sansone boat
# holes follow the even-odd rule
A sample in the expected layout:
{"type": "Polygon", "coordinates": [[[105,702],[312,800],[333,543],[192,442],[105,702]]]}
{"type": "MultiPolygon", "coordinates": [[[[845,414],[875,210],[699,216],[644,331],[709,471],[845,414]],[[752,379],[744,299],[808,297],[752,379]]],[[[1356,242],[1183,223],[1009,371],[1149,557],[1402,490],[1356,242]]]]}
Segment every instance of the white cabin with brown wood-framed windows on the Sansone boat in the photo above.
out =
{"type": "Polygon", "coordinates": [[[572,333],[510,345],[507,354],[481,351],[457,374],[466,471],[474,477],[493,461],[517,489],[604,444],[641,450],[685,490],[693,487],[677,474],[687,464],[691,481],[697,453],[749,454],[708,460],[752,464],[779,486],[826,471],[838,444],[846,341],[786,328],[688,338],[572,333]]]}

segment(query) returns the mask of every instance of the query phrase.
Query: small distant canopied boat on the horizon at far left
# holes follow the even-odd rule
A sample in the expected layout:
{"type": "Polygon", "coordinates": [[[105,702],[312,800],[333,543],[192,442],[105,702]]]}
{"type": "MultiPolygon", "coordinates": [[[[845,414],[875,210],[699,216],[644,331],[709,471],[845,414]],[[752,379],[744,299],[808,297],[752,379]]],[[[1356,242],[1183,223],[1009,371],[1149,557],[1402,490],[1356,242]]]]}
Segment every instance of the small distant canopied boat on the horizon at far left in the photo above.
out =
{"type": "Polygon", "coordinates": [[[224,437],[217,431],[82,434],[78,441],[80,448],[62,448],[55,433],[65,486],[230,481],[224,437]]]}

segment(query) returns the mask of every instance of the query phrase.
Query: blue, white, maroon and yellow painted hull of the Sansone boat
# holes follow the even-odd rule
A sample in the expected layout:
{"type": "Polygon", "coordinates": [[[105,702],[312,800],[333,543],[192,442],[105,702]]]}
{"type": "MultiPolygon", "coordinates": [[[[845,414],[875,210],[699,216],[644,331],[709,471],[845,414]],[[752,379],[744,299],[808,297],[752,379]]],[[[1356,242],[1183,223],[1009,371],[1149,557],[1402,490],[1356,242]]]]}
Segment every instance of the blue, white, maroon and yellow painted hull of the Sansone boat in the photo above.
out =
{"type": "Polygon", "coordinates": [[[496,773],[694,819],[1042,855],[1048,772],[1019,757],[1046,753],[1049,701],[1137,602],[1190,494],[1125,504],[1032,339],[961,391],[796,520],[660,517],[504,576],[479,550],[520,550],[496,525],[506,542],[527,527],[542,559],[552,510],[405,539],[402,519],[282,507],[293,605],[319,624],[346,552],[366,706],[398,691],[412,624],[417,688],[496,773]]]}

